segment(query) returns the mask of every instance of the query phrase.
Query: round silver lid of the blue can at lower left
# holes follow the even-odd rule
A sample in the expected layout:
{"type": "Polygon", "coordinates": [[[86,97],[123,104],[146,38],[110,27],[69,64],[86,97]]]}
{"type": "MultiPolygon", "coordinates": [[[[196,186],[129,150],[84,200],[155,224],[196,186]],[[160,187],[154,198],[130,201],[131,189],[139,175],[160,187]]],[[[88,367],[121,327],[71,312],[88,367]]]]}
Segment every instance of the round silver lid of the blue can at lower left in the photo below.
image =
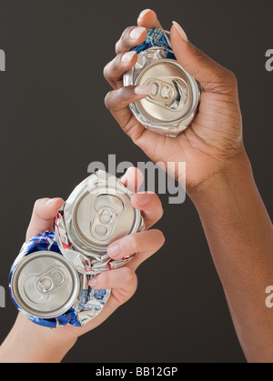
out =
{"type": "Polygon", "coordinates": [[[79,276],[55,252],[38,251],[25,256],[11,280],[13,296],[26,314],[50,319],[66,313],[79,300],[79,276]]]}

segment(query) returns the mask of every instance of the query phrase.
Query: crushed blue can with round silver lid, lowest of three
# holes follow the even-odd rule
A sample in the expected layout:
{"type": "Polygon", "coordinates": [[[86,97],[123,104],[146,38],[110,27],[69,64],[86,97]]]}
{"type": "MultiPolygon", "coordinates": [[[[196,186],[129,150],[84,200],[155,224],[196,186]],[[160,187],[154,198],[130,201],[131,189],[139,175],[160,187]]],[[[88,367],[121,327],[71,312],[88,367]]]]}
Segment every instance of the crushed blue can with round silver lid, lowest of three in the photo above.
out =
{"type": "Polygon", "coordinates": [[[105,306],[110,290],[93,290],[88,277],[61,254],[53,232],[25,242],[9,276],[18,311],[39,326],[84,326],[105,306]]]}

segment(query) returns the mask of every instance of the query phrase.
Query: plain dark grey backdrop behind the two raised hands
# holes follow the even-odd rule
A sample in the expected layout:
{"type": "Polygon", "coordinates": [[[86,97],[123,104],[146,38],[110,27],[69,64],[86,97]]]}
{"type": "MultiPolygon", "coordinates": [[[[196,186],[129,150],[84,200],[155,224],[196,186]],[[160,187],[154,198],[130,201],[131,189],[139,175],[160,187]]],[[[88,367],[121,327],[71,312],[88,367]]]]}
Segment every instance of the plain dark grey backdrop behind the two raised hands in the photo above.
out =
{"type": "MultiPolygon", "coordinates": [[[[147,7],[166,28],[177,20],[191,42],[238,75],[245,144],[272,212],[271,0],[1,0],[0,341],[15,321],[7,276],[35,199],[66,198],[87,165],[107,163],[108,154],[147,161],[106,110],[102,75],[119,35],[147,7]]],[[[166,245],[138,270],[136,296],[80,338],[65,362],[245,362],[195,207],[188,198],[180,206],[160,198],[166,245]]]]}

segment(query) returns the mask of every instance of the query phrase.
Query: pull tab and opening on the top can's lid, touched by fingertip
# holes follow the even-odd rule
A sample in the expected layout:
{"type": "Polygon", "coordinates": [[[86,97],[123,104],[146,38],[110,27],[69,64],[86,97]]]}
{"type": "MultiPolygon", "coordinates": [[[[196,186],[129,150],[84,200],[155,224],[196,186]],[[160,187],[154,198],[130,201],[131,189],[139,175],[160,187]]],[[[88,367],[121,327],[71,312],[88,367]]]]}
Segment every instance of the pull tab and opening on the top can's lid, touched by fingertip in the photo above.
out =
{"type": "Polygon", "coordinates": [[[147,101],[172,111],[179,111],[187,101],[187,84],[181,78],[150,78],[144,85],[152,86],[147,101]]]}

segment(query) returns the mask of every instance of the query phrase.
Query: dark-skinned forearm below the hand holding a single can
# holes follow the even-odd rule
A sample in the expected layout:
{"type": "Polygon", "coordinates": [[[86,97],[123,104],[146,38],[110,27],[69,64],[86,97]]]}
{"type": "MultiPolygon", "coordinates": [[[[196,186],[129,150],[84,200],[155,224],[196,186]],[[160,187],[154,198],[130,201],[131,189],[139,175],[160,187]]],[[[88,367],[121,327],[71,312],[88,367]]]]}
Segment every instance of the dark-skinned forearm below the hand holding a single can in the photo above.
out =
{"type": "Polygon", "coordinates": [[[265,304],[273,284],[273,228],[247,155],[201,185],[192,200],[247,359],[273,362],[273,313],[265,304]]]}

